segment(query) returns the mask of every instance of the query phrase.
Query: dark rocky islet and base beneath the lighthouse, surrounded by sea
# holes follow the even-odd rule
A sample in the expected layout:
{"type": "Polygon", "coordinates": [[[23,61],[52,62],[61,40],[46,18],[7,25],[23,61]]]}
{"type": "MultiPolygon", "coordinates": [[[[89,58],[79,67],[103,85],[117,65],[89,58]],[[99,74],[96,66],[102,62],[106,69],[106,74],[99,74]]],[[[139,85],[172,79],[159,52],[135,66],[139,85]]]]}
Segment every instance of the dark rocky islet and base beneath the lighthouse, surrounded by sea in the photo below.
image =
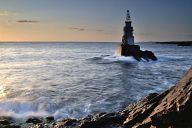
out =
{"type": "Polygon", "coordinates": [[[121,55],[122,56],[133,56],[136,60],[141,61],[141,59],[149,60],[157,60],[157,57],[154,55],[152,51],[142,51],[140,50],[139,45],[121,45],[121,55]]]}

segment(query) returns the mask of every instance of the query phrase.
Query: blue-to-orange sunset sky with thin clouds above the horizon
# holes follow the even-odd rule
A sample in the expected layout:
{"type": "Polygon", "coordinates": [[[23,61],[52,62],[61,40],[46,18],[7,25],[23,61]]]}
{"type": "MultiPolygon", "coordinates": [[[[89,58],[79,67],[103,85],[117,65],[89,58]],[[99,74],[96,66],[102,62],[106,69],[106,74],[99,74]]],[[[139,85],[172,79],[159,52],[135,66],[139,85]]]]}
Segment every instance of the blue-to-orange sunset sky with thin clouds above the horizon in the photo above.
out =
{"type": "Polygon", "coordinates": [[[0,0],[0,41],[192,40],[192,0],[0,0]]]}

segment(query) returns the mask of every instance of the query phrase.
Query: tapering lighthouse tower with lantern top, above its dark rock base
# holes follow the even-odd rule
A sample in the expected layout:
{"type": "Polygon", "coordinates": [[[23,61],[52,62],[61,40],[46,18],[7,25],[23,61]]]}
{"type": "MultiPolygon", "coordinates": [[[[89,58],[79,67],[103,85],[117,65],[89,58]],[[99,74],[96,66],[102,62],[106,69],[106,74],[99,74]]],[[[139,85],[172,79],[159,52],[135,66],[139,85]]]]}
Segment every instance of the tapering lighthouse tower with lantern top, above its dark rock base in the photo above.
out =
{"type": "Polygon", "coordinates": [[[123,45],[134,45],[133,27],[131,26],[131,17],[129,10],[127,10],[127,16],[125,21],[125,27],[123,29],[124,34],[122,38],[123,45]]]}

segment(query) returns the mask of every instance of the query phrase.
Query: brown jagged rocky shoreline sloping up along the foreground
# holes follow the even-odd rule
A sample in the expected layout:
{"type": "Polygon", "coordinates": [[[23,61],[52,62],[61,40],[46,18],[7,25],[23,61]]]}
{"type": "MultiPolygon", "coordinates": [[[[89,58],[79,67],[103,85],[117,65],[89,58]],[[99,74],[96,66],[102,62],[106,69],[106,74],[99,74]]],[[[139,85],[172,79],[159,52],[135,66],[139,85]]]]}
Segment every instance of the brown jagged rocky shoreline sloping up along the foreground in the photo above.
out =
{"type": "Polygon", "coordinates": [[[0,117],[0,128],[191,128],[192,67],[177,85],[161,94],[152,93],[114,113],[98,113],[82,119],[31,117],[24,123],[0,117]]]}

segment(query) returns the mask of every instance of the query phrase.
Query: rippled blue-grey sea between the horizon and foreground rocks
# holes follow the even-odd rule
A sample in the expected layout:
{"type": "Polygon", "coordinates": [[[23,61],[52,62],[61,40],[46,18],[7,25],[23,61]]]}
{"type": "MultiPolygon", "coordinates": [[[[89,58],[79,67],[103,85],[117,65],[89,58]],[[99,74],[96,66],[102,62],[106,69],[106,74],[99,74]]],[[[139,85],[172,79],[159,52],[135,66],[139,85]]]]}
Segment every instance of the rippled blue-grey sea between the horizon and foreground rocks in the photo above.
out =
{"type": "Polygon", "coordinates": [[[120,56],[113,42],[0,43],[0,116],[82,118],[115,112],[174,86],[192,47],[137,43],[158,61],[120,56]]]}

